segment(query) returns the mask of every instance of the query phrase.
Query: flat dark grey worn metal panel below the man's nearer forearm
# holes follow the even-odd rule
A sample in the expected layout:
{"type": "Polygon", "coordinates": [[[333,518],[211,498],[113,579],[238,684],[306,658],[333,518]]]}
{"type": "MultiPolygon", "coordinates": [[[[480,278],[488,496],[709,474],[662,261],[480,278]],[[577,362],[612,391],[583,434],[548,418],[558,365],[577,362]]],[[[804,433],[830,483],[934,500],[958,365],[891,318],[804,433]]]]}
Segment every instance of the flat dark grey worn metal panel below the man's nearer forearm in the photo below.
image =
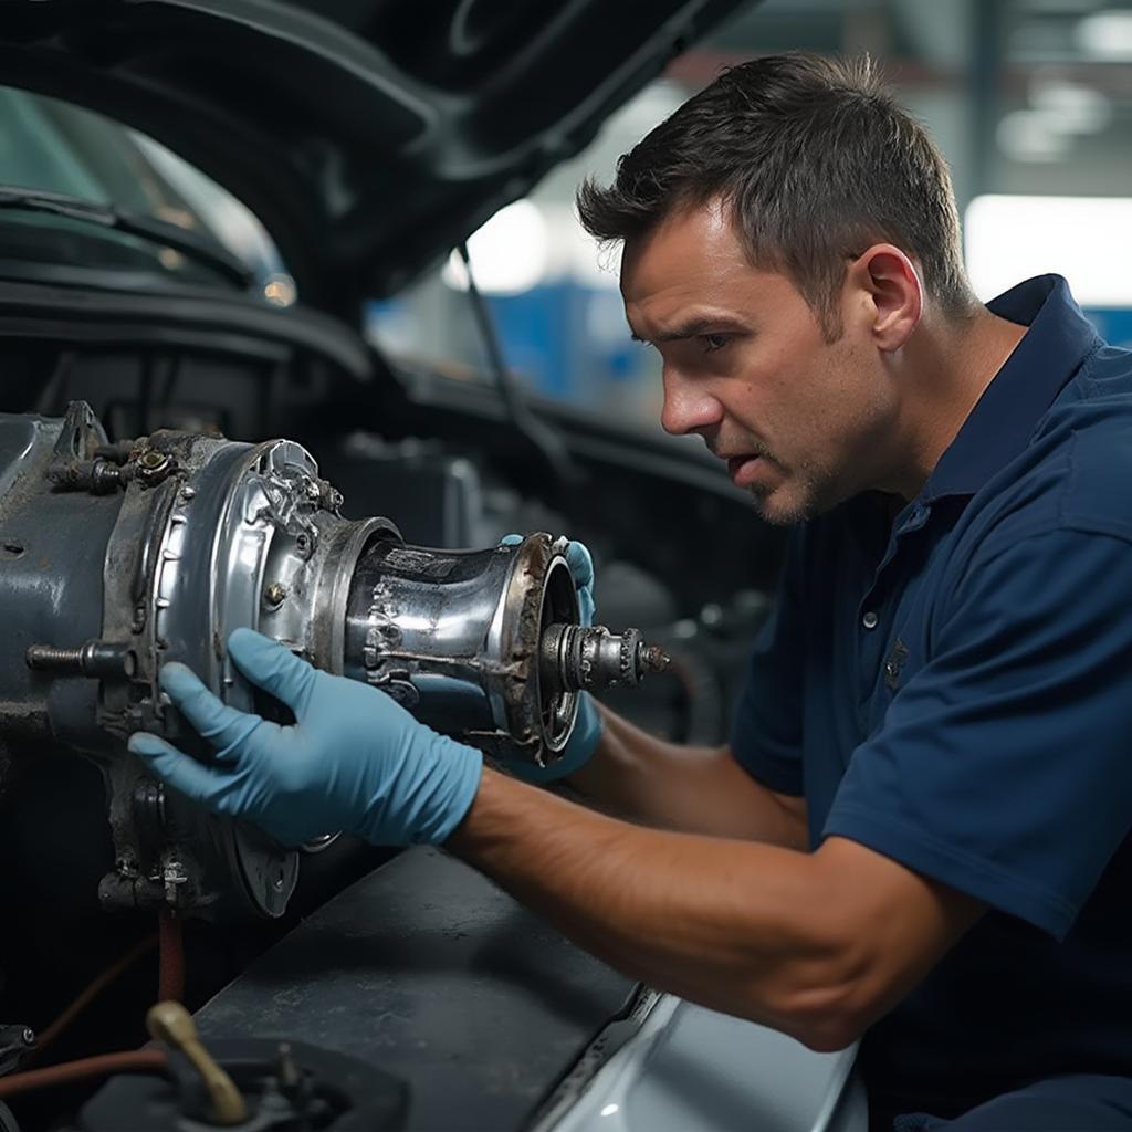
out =
{"type": "Polygon", "coordinates": [[[435,849],[340,893],[196,1017],[211,1037],[294,1038],[409,1081],[406,1127],[508,1132],[635,984],[435,849]]]}

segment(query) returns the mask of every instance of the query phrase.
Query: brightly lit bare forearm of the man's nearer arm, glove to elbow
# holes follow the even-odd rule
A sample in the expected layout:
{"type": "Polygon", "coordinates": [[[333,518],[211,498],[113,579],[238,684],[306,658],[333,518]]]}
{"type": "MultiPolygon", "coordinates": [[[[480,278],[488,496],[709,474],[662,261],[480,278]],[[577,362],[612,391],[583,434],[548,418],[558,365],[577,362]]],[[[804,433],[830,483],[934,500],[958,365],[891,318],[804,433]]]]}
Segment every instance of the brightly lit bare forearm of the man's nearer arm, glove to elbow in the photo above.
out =
{"type": "Polygon", "coordinates": [[[840,943],[809,855],[642,829],[490,771],[448,848],[661,989],[797,1036],[799,1003],[826,1005],[840,943]]]}

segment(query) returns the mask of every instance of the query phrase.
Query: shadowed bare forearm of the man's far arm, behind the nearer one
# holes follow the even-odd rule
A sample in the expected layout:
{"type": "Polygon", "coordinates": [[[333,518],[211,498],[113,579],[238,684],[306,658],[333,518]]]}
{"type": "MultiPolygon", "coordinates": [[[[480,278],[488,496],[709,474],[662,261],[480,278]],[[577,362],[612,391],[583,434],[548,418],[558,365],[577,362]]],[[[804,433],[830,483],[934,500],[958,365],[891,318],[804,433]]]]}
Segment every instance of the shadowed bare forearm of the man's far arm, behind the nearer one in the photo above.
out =
{"type": "Polygon", "coordinates": [[[684,747],[601,709],[603,736],[571,784],[631,821],[686,833],[806,847],[805,809],[755,782],[727,747],[684,747]]]}

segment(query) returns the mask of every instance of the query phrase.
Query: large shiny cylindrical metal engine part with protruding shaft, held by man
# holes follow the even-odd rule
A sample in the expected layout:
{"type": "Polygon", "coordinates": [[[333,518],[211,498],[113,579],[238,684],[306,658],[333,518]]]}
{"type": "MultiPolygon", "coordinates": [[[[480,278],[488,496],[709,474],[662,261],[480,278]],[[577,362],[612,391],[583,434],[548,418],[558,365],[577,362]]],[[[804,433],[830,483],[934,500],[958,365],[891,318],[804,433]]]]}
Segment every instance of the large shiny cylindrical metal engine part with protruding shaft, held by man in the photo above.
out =
{"type": "Polygon", "coordinates": [[[286,907],[297,851],[166,792],[125,748],[146,729],[212,757],[160,692],[172,660],[241,710],[283,714],[231,663],[234,628],[540,765],[569,739],[578,689],[635,686],[663,662],[635,631],[577,625],[563,540],[409,547],[341,503],[290,440],[111,445],[84,402],[62,420],[0,414],[0,770],[49,739],[98,763],[115,850],[104,907],[286,907]]]}

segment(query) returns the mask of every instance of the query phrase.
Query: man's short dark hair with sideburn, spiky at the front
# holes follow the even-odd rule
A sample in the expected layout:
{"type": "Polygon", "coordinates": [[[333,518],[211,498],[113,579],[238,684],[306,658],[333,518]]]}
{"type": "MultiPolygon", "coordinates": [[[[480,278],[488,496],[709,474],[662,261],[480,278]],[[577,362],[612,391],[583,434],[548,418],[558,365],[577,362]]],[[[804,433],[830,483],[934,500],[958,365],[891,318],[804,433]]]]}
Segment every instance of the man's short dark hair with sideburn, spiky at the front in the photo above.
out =
{"type": "Polygon", "coordinates": [[[951,317],[977,306],[946,162],[866,57],[767,55],[723,71],[577,194],[602,241],[721,199],[751,263],[788,274],[827,338],[849,259],[877,240],[914,257],[951,317]]]}

